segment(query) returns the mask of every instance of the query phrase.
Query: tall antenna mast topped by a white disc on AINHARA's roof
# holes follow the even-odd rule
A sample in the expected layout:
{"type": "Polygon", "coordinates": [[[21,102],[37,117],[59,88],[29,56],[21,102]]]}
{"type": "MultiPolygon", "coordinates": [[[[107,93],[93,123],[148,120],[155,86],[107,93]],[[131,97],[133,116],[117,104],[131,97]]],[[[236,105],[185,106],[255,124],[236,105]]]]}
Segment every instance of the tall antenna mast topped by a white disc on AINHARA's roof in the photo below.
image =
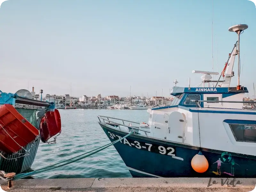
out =
{"type": "Polygon", "coordinates": [[[248,28],[248,25],[244,24],[239,24],[239,25],[234,25],[230,27],[228,30],[231,32],[236,32],[237,34],[237,85],[236,85],[236,90],[241,90],[241,85],[240,85],[240,34],[244,32],[245,29],[248,28]]]}

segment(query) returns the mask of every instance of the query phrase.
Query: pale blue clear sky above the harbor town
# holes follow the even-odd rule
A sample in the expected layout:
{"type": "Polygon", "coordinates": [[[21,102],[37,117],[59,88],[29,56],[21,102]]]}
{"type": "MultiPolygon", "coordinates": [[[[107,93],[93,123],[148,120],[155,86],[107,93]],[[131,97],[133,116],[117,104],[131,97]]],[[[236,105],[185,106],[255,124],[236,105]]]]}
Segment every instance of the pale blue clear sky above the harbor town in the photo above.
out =
{"type": "MultiPolygon", "coordinates": [[[[256,1],[213,0],[213,63],[221,73],[240,36],[240,84],[253,94],[256,1]],[[215,38],[216,37],[216,38],[215,38]],[[217,48],[216,48],[217,45],[217,48]],[[217,53],[217,54],[216,54],[217,53]],[[218,60],[217,60],[218,58],[218,60]]],[[[169,96],[212,71],[211,0],[0,0],[0,90],[169,96]]],[[[236,86],[235,77],[231,85],[236,86]]],[[[215,77],[214,77],[215,78],[215,77]]]]}

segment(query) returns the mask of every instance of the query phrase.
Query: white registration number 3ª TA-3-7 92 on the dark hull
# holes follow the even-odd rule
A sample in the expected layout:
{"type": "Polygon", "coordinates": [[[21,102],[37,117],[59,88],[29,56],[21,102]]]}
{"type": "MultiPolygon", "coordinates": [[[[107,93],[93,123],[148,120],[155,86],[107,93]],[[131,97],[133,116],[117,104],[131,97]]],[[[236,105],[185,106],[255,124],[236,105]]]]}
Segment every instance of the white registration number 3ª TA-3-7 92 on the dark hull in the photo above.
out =
{"type": "MultiPolygon", "coordinates": [[[[121,139],[123,136],[116,135],[114,133],[111,133],[108,131],[109,137],[114,140],[121,139]]],[[[137,149],[142,149],[145,151],[150,151],[153,153],[158,153],[162,155],[169,155],[169,156],[176,156],[176,149],[175,147],[169,147],[164,145],[158,145],[158,144],[150,144],[143,141],[136,141],[131,140],[128,138],[124,138],[123,140],[120,140],[121,143],[125,145],[129,145],[130,147],[134,147],[137,149]]]]}

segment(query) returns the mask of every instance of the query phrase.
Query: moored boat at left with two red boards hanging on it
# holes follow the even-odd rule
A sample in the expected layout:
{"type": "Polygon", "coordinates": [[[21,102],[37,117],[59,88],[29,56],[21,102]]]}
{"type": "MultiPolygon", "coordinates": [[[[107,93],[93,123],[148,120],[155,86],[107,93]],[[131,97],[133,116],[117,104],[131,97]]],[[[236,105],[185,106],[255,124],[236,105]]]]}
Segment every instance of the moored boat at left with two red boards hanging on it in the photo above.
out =
{"type": "MultiPolygon", "coordinates": [[[[54,143],[61,120],[53,102],[33,100],[28,90],[0,91],[0,172],[18,174],[30,169],[40,139],[54,143]],[[53,141],[49,141],[54,137],[53,141]]],[[[4,179],[4,175],[0,176],[4,179]]]]}

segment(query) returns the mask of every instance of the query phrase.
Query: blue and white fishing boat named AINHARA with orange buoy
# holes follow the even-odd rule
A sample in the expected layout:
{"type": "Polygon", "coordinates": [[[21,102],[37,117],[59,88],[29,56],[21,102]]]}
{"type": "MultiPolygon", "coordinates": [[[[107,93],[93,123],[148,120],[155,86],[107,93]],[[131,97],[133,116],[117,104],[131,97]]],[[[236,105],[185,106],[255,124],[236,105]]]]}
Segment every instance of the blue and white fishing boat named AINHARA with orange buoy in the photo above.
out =
{"type": "Polygon", "coordinates": [[[148,109],[148,127],[98,116],[110,141],[133,132],[114,144],[133,177],[256,177],[256,113],[242,109],[248,90],[239,81],[240,34],[247,28],[228,29],[238,41],[220,74],[223,80],[211,80],[218,72],[192,71],[203,74],[201,87],[190,82],[173,87],[170,106],[148,109]],[[237,86],[231,87],[236,55],[237,86]]]}

